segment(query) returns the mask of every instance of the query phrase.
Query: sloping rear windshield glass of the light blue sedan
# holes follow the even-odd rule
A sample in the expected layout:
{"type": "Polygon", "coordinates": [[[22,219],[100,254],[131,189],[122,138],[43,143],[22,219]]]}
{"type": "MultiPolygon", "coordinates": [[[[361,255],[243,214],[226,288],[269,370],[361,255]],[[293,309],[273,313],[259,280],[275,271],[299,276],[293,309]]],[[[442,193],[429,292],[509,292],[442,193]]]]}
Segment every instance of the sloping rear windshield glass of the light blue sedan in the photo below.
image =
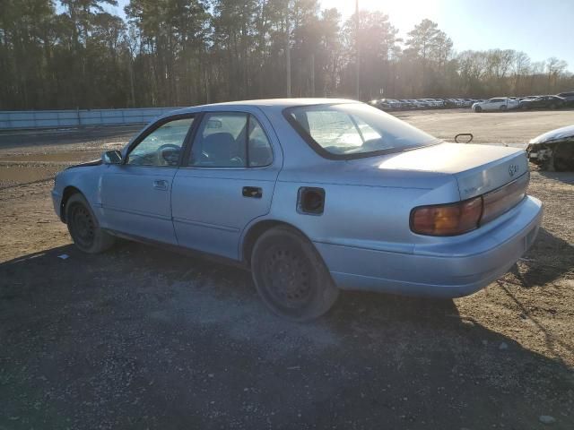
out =
{"type": "Polygon", "coordinates": [[[284,115],[301,137],[326,158],[369,157],[440,142],[363,103],[290,107],[284,115]]]}

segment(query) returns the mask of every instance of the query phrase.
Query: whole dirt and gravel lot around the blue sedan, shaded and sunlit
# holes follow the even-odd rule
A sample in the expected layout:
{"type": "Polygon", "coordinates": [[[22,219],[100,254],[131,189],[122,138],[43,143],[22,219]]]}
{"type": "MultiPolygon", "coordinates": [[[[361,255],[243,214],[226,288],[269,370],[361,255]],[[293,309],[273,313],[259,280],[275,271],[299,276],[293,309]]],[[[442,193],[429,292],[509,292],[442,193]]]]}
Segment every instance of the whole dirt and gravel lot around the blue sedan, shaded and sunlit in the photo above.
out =
{"type": "MultiPolygon", "coordinates": [[[[572,111],[399,116],[475,142],[574,124],[572,111]]],[[[0,429],[574,428],[574,174],[533,173],[544,228],[489,288],[454,301],[344,292],[294,324],[245,271],[70,245],[50,178],[137,128],[0,133],[0,429]]]]}

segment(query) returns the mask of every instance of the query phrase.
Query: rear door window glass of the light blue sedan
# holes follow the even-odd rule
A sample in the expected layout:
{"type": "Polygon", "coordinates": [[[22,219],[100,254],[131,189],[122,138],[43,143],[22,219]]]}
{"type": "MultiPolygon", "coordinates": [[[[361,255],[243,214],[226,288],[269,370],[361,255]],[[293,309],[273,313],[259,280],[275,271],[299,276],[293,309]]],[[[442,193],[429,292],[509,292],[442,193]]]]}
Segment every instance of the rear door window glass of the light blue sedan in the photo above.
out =
{"type": "Polygon", "coordinates": [[[191,148],[188,166],[257,168],[273,161],[271,144],[255,116],[243,112],[208,113],[191,148]]]}

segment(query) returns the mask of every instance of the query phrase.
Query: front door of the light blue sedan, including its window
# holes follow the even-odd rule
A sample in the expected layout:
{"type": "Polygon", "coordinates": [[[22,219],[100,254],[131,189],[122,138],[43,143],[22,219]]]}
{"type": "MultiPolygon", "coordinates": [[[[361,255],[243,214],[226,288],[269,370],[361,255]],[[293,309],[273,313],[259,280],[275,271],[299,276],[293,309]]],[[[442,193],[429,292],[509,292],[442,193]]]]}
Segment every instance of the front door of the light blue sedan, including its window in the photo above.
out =
{"type": "Polygon", "coordinates": [[[177,244],[171,185],[193,121],[193,115],[161,119],[132,142],[122,164],[108,166],[100,183],[106,228],[177,244]]]}

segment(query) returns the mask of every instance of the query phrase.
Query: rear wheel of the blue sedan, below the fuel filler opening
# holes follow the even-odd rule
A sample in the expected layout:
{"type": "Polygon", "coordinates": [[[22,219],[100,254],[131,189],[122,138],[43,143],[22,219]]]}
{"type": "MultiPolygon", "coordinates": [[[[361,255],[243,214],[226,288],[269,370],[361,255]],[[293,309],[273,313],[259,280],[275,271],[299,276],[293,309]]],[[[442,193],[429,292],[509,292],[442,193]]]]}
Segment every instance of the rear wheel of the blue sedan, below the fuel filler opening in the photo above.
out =
{"type": "Polygon", "coordinates": [[[339,296],[315,247],[293,228],[271,228],[257,239],[251,271],[265,304],[291,321],[325,314],[339,296]]]}

